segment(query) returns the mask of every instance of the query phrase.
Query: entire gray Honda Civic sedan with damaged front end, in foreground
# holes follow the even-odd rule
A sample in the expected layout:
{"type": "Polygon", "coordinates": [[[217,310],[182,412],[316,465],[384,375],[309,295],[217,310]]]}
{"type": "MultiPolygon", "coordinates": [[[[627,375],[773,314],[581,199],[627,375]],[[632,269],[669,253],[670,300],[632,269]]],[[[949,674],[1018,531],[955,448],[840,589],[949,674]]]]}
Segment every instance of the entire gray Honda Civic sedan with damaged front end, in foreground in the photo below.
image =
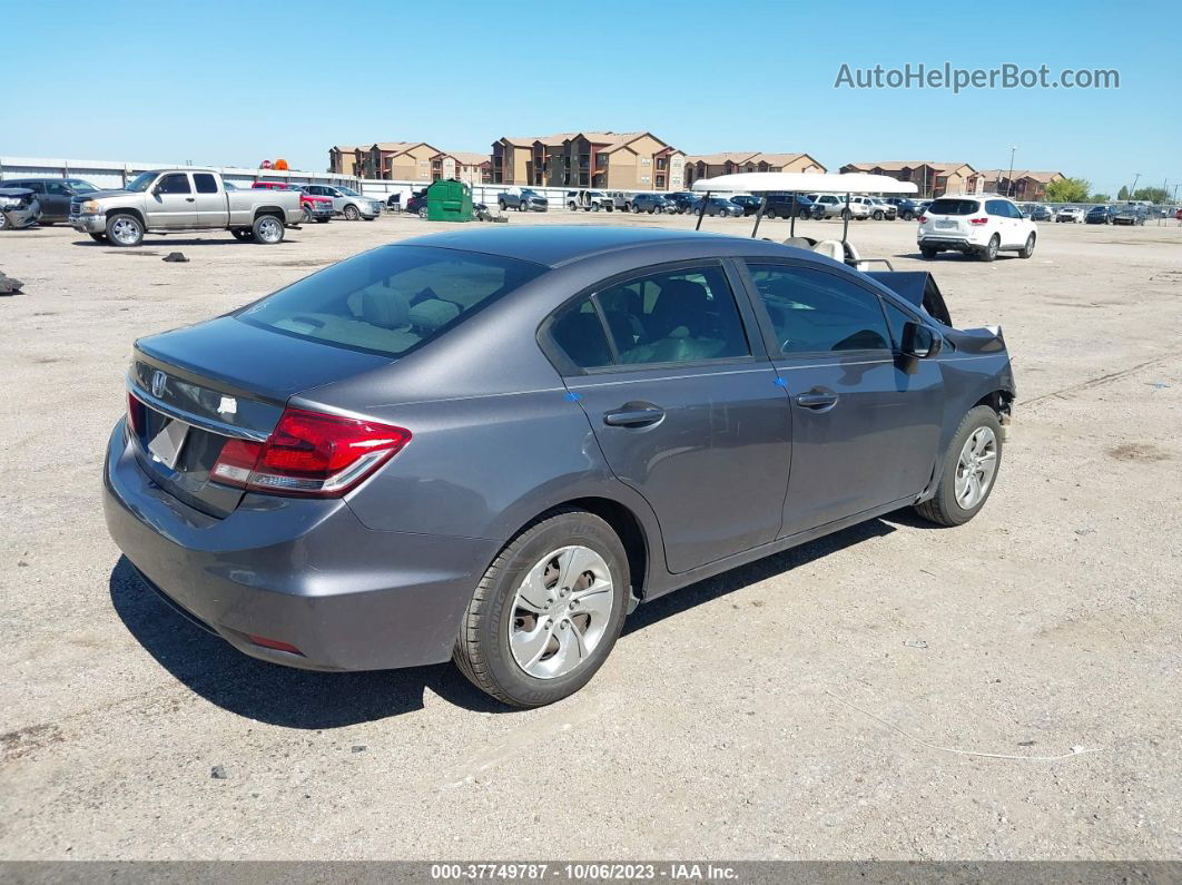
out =
{"type": "Polygon", "coordinates": [[[985,505],[1014,383],[926,273],[613,227],[436,234],[136,343],[104,466],[144,586],[247,655],[582,688],[637,604],[985,505]]]}

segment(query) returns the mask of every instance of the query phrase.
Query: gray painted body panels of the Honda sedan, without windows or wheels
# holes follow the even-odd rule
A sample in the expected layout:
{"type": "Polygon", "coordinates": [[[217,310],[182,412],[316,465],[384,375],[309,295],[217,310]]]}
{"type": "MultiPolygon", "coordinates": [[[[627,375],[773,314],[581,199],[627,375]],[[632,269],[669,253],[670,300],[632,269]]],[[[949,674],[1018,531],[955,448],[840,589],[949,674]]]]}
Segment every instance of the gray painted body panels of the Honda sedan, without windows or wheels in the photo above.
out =
{"type": "Polygon", "coordinates": [[[930,496],[965,412],[991,395],[1013,395],[1000,334],[952,330],[865,274],[778,243],[546,227],[401,245],[551,269],[396,360],[256,328],[252,346],[219,349],[223,336],[245,340],[236,338],[245,324],[233,318],[137,345],[212,391],[258,390],[272,403],[366,416],[414,434],[342,500],[247,493],[219,519],[150,480],[122,422],[116,427],[105,468],[116,542],[152,584],[255,657],[333,669],[446,661],[496,551],[569,502],[609,506],[635,522],[645,562],[634,592],[656,598],[930,496]],[[827,365],[768,359],[774,339],[748,292],[743,258],[844,274],[915,314],[946,347],[869,369],[844,357],[827,365]],[[547,352],[545,319],[571,298],[618,274],[680,261],[725,265],[752,357],[587,373],[547,352]],[[803,415],[792,402],[817,384],[843,392],[826,412],[832,421],[803,415]],[[609,431],[603,412],[635,399],[661,405],[667,419],[609,431]],[[243,638],[249,632],[291,642],[306,657],[254,645],[243,638]]]}

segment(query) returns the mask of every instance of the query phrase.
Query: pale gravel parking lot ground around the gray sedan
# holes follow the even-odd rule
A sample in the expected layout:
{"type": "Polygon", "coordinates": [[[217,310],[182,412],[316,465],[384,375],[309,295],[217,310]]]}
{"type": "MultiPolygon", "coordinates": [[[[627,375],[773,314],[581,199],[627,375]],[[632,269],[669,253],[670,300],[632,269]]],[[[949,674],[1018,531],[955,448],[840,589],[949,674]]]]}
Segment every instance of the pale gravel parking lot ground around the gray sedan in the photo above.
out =
{"type": "MultiPolygon", "coordinates": [[[[693,226],[509,223],[572,219],[693,226]]],[[[1005,328],[1019,405],[981,516],[900,513],[643,606],[585,690],[525,712],[450,666],[247,658],[138,586],[99,507],[136,337],[437,229],[0,234],[25,282],[0,297],[0,858],[1182,858],[1176,222],[1043,224],[992,265],[853,223],[957,325],[1005,328]]]]}

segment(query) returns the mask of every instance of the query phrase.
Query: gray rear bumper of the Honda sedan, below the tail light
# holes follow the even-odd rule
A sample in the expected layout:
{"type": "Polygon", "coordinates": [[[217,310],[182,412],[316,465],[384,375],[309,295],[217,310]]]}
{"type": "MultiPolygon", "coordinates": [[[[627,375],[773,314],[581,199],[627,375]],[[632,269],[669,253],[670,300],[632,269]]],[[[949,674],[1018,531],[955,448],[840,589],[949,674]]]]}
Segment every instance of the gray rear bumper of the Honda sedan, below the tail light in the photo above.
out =
{"type": "Polygon", "coordinates": [[[277,664],[442,663],[496,554],[485,539],[375,532],[340,499],[247,495],[214,519],[149,480],[122,421],[103,474],[108,531],[151,588],[240,651],[277,664]]]}

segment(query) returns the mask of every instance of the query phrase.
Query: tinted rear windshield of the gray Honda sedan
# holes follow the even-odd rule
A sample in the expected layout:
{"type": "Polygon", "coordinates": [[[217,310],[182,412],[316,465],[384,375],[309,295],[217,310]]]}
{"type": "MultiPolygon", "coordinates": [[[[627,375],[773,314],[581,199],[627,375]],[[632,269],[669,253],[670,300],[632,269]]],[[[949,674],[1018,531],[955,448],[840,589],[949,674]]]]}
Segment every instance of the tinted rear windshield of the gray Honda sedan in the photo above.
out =
{"type": "Polygon", "coordinates": [[[498,255],[385,246],[299,280],[235,317],[296,338],[397,357],[545,271],[498,255]]]}

